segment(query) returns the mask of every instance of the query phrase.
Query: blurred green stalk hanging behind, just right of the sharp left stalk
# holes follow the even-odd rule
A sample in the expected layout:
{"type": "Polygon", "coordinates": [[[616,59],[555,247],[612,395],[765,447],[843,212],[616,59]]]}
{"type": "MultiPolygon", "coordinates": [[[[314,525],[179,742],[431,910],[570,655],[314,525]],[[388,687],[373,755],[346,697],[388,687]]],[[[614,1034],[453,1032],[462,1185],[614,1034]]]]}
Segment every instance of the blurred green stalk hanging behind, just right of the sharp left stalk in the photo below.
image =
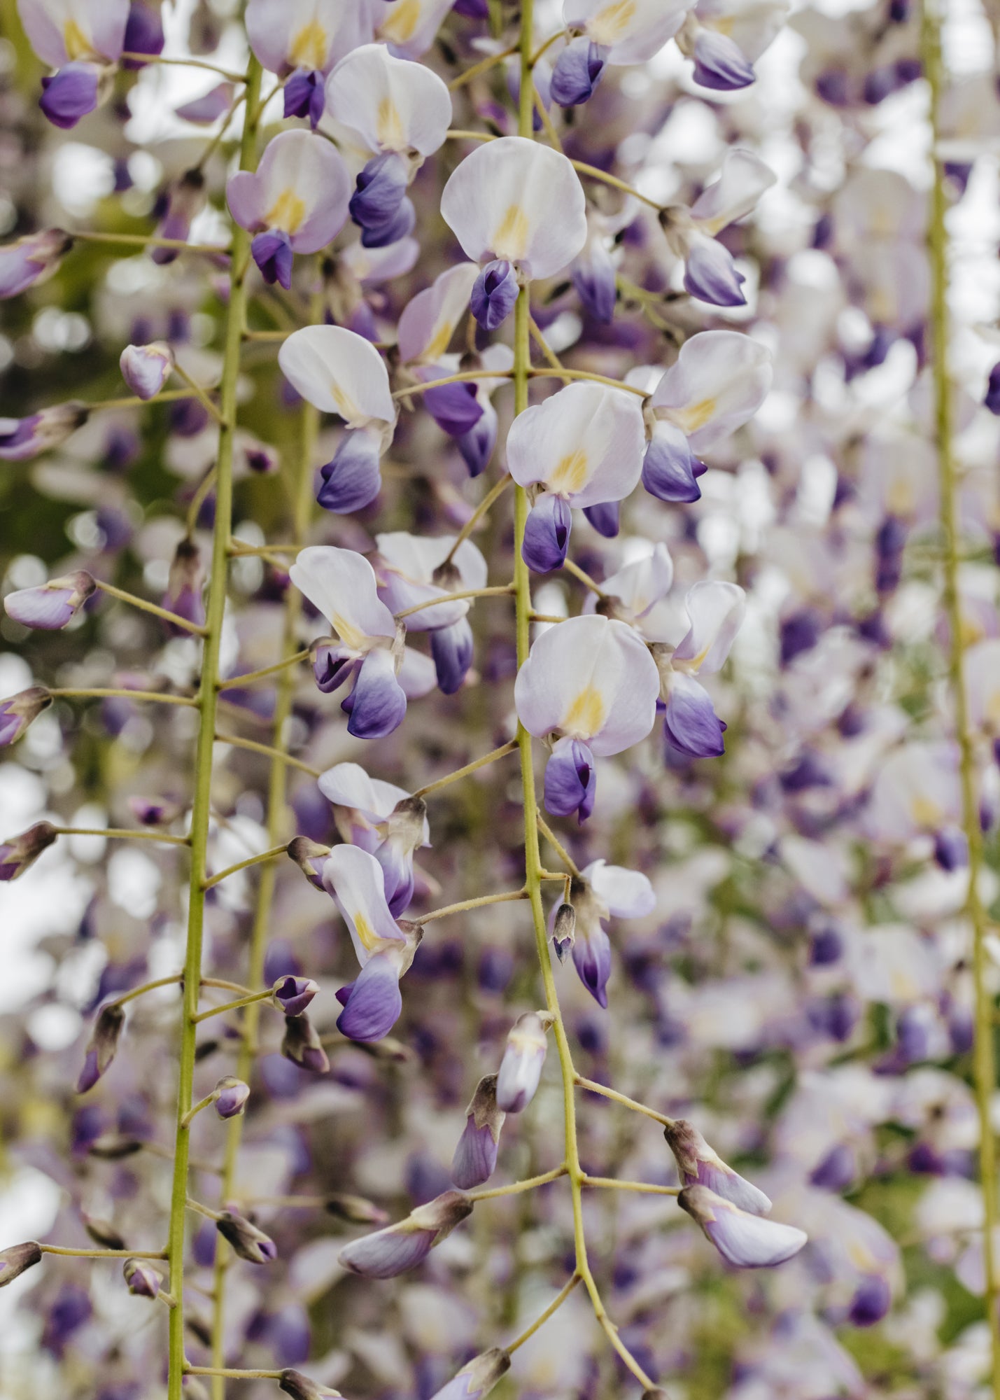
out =
{"type": "MultiPolygon", "coordinates": [[[[321,319],[321,304],[318,297],[312,298],[311,321],[321,319]]],[[[293,538],[296,547],[303,545],[310,532],[312,517],[312,459],[315,455],[317,435],[319,431],[319,413],[310,403],[301,410],[301,442],[298,448],[298,470],[296,477],[293,501],[293,538]]],[[[289,652],[296,645],[298,633],[298,617],[301,612],[301,595],[297,588],[289,588],[284,595],[284,636],[282,651],[289,652]]],[[[300,654],[303,655],[303,654],[300,654]]],[[[304,655],[308,655],[305,652],[304,655]]],[[[293,658],[297,659],[297,658],[293,658]]],[[[280,678],[277,680],[277,696],[275,701],[275,745],[279,753],[287,745],[289,718],[296,696],[296,671],[287,661],[280,664],[280,678]]],[[[301,764],[298,764],[301,767],[301,764]]],[[[287,762],[272,763],[268,787],[268,836],[273,843],[273,850],[283,839],[287,839],[287,762]]],[[[251,986],[261,986],[263,981],[263,955],[268,946],[270,928],[270,914],[277,885],[277,865],[268,860],[261,871],[258,885],[256,909],[254,927],[251,930],[249,951],[246,956],[246,980],[251,986]]],[[[249,1082],[256,1054],[258,1026],[261,1019],[261,1004],[249,1004],[242,1014],[242,1037],[237,1056],[235,1077],[249,1082]]],[[[220,1200],[228,1200],[232,1194],[232,1184],[237,1172],[237,1156],[242,1141],[242,1114],[230,1119],[225,1134],[225,1158],[223,1162],[223,1176],[218,1187],[220,1200]]],[[[228,1250],[220,1249],[216,1254],[214,1273],[214,1308],[211,1319],[211,1365],[216,1368],[211,1382],[211,1400],[224,1400],[224,1336],[225,1336],[225,1278],[228,1270],[228,1250]]]]}

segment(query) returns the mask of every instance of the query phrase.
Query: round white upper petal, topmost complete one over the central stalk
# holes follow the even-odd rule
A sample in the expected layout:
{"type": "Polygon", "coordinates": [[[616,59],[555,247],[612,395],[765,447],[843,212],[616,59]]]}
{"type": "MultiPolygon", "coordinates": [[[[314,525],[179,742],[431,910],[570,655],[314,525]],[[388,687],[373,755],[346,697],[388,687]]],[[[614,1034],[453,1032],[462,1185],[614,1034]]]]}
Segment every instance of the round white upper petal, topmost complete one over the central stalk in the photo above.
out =
{"type": "Polygon", "coordinates": [[[532,277],[567,267],[587,242],[587,202],[559,151],[521,136],[476,147],[451,174],[441,217],[466,256],[524,265],[532,277]]]}

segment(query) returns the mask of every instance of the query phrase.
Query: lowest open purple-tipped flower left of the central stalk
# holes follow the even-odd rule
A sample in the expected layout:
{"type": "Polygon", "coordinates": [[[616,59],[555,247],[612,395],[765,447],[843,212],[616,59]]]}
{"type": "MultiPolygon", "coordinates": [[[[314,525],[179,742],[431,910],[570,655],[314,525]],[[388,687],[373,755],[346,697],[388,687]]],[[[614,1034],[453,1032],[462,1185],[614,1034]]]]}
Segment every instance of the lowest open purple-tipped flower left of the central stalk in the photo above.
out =
{"type": "Polygon", "coordinates": [[[338,1030],[352,1040],[381,1040],[399,1019],[399,979],[413,962],[422,930],[395,921],[385,900],[382,867],[357,846],[336,846],[324,864],[324,885],[340,910],[361,965],[342,987],[338,1030]]]}

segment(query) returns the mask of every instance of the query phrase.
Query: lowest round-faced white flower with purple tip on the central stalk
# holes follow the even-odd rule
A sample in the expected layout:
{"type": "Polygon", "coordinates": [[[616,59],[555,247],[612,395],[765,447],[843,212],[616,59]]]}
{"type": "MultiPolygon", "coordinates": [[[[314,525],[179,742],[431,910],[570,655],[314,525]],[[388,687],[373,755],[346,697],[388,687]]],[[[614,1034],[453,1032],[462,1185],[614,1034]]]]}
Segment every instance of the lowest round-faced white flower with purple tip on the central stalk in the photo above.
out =
{"type": "Polygon", "coordinates": [[[653,728],[660,693],[646,644],[623,622],[570,617],[535,641],[517,673],[514,704],[528,734],[552,743],[545,808],[590,816],[594,757],[620,753],[653,728]]]}

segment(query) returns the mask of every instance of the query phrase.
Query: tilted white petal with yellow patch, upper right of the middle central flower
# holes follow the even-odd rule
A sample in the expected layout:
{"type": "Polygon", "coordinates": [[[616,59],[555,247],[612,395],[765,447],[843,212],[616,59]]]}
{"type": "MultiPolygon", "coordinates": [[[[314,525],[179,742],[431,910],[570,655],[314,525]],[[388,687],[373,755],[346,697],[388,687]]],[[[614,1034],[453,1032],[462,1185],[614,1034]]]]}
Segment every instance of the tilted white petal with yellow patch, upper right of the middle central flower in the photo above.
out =
{"type": "Polygon", "coordinates": [[[686,435],[696,452],[746,423],[773,378],[770,351],[737,330],[700,330],[653,391],[650,407],[686,435]]]}

